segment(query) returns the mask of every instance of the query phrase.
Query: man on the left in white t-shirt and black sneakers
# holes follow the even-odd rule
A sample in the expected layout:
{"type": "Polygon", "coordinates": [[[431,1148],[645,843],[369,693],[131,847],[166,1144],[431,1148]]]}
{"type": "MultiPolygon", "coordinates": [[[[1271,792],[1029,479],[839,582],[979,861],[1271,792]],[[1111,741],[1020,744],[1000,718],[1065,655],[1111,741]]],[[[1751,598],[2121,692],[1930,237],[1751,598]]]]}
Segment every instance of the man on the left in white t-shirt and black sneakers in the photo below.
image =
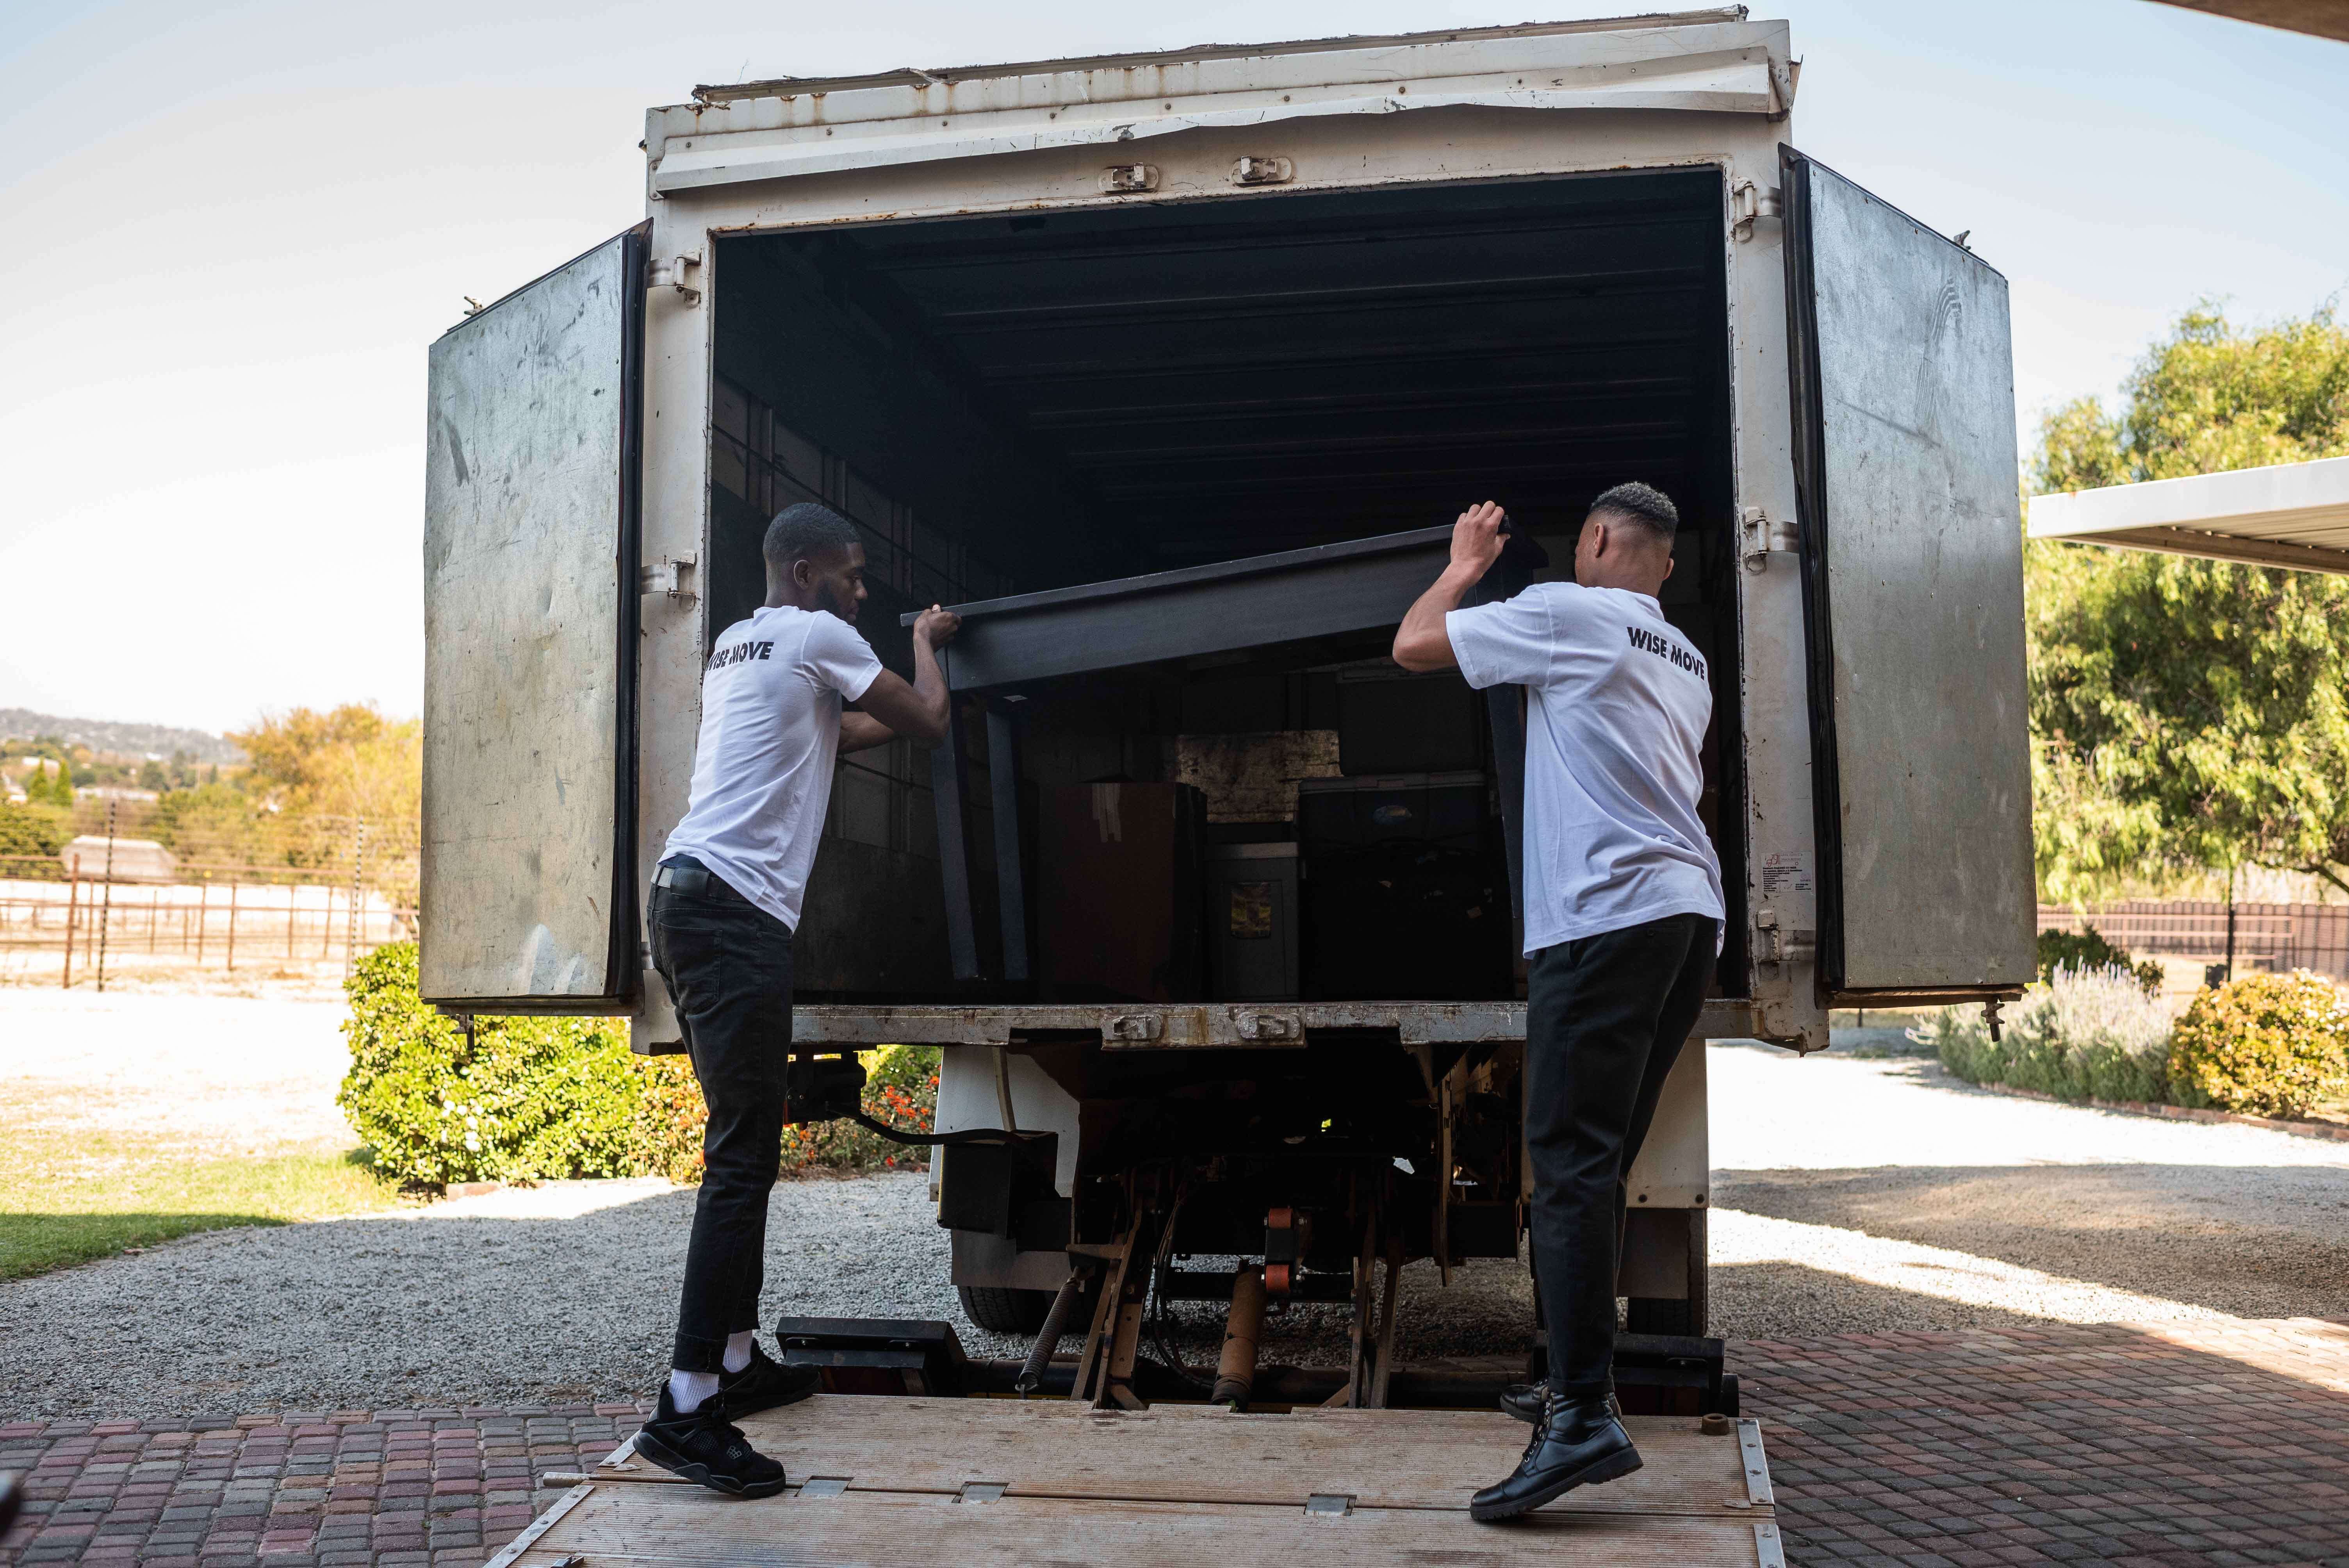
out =
{"type": "Polygon", "coordinates": [[[693,796],[653,873],[653,967],[677,1002],[709,1103],[677,1347],[637,1453],[738,1498],[782,1491],[782,1465],[731,1422],[806,1399],[815,1373],[756,1343],[766,1202],[782,1162],[792,932],[841,751],[947,735],[937,648],[961,620],[914,622],[914,681],[857,636],[864,545],[829,507],[766,530],[766,606],[712,638],[693,796]],[[860,714],[843,714],[855,702],[860,714]]]}

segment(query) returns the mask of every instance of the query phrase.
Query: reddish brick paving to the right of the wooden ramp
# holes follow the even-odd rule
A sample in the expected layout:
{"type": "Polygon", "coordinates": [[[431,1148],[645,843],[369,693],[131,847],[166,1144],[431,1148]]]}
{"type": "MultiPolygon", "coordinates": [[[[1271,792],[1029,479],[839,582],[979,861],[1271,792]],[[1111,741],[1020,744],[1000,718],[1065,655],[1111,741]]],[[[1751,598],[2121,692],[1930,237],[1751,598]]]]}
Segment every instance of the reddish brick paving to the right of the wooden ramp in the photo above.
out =
{"type": "Polygon", "coordinates": [[[2349,1568],[2349,1326],[1738,1345],[1788,1561],[2349,1568]]]}

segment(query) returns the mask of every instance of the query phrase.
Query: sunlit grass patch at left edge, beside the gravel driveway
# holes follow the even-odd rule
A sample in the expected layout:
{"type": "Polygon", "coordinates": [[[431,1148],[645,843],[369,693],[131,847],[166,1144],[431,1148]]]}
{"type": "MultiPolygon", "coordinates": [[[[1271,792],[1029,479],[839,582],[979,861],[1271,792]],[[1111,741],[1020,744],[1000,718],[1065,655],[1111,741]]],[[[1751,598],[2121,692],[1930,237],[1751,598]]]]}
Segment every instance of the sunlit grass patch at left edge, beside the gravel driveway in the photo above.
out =
{"type": "Polygon", "coordinates": [[[16,1124],[0,1160],[0,1279],[197,1230],[284,1225],[399,1204],[329,1148],[221,1153],[186,1138],[16,1124]]]}

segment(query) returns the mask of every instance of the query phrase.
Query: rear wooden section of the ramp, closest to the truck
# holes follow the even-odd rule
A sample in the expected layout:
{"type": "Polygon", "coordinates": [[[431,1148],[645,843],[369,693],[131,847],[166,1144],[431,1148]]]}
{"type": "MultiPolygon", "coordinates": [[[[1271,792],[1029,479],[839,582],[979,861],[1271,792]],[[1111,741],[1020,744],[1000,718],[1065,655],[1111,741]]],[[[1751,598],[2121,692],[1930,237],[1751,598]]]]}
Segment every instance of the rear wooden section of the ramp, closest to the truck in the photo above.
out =
{"type": "MultiPolygon", "coordinates": [[[[1633,1415],[1644,1469],[1562,1498],[1579,1514],[1750,1516],[1736,1437],[1696,1420],[1633,1415]]],[[[1233,1415],[1207,1406],[1090,1411],[1066,1401],[857,1399],[817,1394],[742,1422],[794,1481],[843,1476],[853,1491],[956,1493],[1001,1481],[1012,1498],[1137,1498],[1297,1507],[1315,1493],[1358,1507],[1463,1512],[1517,1465],[1527,1427],[1480,1411],[1297,1411],[1233,1415]]],[[[644,1460],[641,1481],[674,1481],[644,1460]]]]}

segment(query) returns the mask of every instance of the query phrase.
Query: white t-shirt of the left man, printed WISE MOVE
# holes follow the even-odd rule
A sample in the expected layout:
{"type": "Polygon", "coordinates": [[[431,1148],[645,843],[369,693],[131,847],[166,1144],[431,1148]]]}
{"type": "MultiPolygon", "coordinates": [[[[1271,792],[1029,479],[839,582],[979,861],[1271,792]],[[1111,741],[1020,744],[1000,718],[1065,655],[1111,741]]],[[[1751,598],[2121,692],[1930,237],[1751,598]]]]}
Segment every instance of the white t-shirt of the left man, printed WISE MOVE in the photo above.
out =
{"type": "Polygon", "coordinates": [[[832,805],[841,702],[879,674],[871,646],[829,610],[763,608],[726,627],[702,671],[693,798],[662,854],[691,854],[796,932],[832,805]]]}

